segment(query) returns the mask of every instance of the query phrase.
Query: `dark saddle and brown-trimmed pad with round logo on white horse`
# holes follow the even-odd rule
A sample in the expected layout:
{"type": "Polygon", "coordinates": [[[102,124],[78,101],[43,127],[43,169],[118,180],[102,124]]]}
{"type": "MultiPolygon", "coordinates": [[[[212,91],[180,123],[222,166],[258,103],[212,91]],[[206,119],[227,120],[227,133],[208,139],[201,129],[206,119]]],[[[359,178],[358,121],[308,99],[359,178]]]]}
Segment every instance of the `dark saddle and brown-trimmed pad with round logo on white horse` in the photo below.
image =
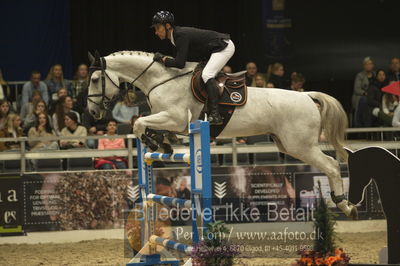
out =
{"type": "MultiPolygon", "coordinates": [[[[192,76],[191,89],[194,97],[201,103],[207,101],[207,91],[201,73],[205,64],[199,63],[192,76]]],[[[219,87],[220,105],[242,106],[247,101],[246,71],[237,73],[220,72],[215,77],[219,87]]]]}

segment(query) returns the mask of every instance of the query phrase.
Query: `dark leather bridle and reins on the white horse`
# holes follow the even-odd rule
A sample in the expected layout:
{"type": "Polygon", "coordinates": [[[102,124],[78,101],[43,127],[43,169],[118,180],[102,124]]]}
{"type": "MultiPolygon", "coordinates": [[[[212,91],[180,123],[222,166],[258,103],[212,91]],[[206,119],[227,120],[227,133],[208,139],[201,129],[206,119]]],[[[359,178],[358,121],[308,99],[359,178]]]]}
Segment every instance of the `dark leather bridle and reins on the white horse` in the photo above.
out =
{"type": "MultiPolygon", "coordinates": [[[[147,70],[149,70],[149,68],[154,64],[155,61],[152,61],[131,83],[130,85],[133,85],[141,76],[144,75],[144,73],[147,72],[147,70]]],[[[107,72],[106,72],[106,60],[104,59],[104,57],[100,57],[100,60],[95,60],[94,63],[89,67],[89,85],[90,86],[90,82],[91,82],[91,78],[92,75],[95,71],[100,70],[101,71],[101,75],[100,75],[100,80],[101,80],[101,93],[95,93],[95,94],[88,94],[88,101],[98,105],[98,106],[103,106],[106,110],[108,110],[109,108],[111,108],[113,106],[113,104],[118,101],[119,99],[121,99],[124,95],[124,90],[119,88],[119,85],[115,84],[115,82],[108,76],[107,72]],[[119,93],[114,95],[111,99],[106,95],[106,77],[111,81],[111,83],[117,87],[119,89],[119,93]],[[101,97],[100,102],[95,102],[93,101],[91,98],[94,97],[101,97]]],[[[160,85],[163,85],[165,83],[167,83],[168,81],[171,81],[173,79],[179,78],[179,77],[183,77],[186,76],[188,74],[193,73],[193,70],[190,70],[188,72],[176,75],[172,78],[166,79],[160,83],[158,83],[157,85],[153,86],[149,92],[147,94],[145,94],[146,98],[147,98],[147,102],[150,105],[151,108],[151,103],[150,103],[150,99],[149,99],[149,95],[150,93],[157,88],[160,85]]]]}

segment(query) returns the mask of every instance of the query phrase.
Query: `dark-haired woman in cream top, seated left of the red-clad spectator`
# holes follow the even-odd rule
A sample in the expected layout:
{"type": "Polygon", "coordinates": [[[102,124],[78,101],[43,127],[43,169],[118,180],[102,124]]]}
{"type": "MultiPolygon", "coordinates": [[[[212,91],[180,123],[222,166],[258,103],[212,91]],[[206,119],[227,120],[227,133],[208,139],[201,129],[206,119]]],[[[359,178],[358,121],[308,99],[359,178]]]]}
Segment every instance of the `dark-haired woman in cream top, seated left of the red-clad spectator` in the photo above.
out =
{"type": "MultiPolygon", "coordinates": [[[[63,137],[86,137],[86,128],[81,126],[78,121],[76,112],[66,113],[64,116],[65,127],[61,130],[60,136],[63,137]]],[[[61,149],[72,149],[72,148],[85,148],[85,139],[68,139],[60,140],[61,149]]]]}

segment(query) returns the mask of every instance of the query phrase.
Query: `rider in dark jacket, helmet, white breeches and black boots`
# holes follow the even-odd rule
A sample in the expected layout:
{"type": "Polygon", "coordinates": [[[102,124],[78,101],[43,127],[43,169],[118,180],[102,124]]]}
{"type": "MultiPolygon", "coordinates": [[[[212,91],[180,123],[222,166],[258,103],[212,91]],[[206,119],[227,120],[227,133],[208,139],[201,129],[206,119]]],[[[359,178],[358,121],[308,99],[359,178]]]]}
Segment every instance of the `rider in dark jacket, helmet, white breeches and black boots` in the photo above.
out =
{"type": "Polygon", "coordinates": [[[218,112],[219,86],[215,76],[235,52],[229,34],[175,26],[174,15],[169,11],[157,12],[152,27],[161,40],[168,38],[176,46],[175,58],[156,53],[154,61],[166,67],[184,68],[186,61],[193,60],[193,57],[208,60],[201,76],[208,93],[208,121],[211,125],[221,125],[222,117],[218,112]]]}

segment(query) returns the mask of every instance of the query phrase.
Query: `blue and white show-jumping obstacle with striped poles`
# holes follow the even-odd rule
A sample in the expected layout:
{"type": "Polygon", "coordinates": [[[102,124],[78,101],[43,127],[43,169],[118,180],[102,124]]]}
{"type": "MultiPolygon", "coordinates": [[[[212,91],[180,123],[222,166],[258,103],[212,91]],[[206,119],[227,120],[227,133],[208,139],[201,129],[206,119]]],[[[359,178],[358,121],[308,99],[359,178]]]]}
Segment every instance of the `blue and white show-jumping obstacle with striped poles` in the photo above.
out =
{"type": "MultiPolygon", "coordinates": [[[[174,258],[167,249],[176,250],[190,255],[192,247],[165,239],[155,235],[154,202],[178,208],[192,209],[192,243],[198,243],[207,224],[212,221],[212,188],[211,188],[211,162],[210,162],[210,128],[205,121],[196,121],[189,125],[190,153],[163,154],[147,152],[144,145],[137,140],[138,161],[138,203],[141,203],[144,212],[142,220],[142,243],[145,243],[139,253],[127,264],[137,265],[179,265],[179,260],[174,258]],[[183,162],[190,164],[191,175],[191,200],[172,198],[155,194],[153,166],[154,161],[183,162]],[[145,208],[146,206],[146,208],[145,208]],[[162,247],[162,252],[157,252],[157,247],[162,247]],[[161,260],[161,255],[168,258],[161,260]],[[172,259],[171,259],[172,258],[172,259]]],[[[191,265],[189,259],[185,265],[191,265]]]]}

